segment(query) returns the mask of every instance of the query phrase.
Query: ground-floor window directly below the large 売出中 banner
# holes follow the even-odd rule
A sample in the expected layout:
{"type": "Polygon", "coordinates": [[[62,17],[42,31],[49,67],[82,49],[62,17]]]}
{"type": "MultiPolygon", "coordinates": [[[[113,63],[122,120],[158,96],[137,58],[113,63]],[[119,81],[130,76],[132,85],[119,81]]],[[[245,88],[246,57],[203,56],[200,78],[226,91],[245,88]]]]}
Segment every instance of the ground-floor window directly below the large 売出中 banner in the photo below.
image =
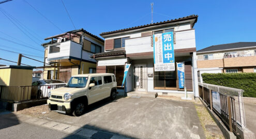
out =
{"type": "Polygon", "coordinates": [[[176,88],[176,71],[154,72],[154,88],[176,88]]]}

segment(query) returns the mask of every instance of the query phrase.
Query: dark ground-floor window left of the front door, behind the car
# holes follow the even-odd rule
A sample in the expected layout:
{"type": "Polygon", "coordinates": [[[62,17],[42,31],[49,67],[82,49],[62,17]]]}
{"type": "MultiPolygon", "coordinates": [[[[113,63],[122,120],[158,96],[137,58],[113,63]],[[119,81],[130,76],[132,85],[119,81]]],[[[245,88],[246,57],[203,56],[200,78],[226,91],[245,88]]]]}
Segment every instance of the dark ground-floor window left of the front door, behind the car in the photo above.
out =
{"type": "Polygon", "coordinates": [[[125,66],[124,65],[107,66],[106,67],[106,72],[107,73],[112,73],[112,74],[115,75],[116,85],[118,87],[122,86],[122,82],[123,82],[123,79],[124,79],[124,71],[125,71],[125,66]]]}

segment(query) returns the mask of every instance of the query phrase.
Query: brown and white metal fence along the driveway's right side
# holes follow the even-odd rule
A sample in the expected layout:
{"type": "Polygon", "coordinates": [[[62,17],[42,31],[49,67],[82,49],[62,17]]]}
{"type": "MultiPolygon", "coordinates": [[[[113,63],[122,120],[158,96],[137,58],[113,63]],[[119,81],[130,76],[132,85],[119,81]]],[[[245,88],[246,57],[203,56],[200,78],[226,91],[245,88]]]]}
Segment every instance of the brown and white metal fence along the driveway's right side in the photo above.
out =
{"type": "Polygon", "coordinates": [[[244,90],[240,89],[199,82],[200,97],[234,133],[237,133],[237,126],[246,127],[243,92],[244,90]],[[217,110],[214,106],[213,91],[219,93],[220,110],[217,110]]]}

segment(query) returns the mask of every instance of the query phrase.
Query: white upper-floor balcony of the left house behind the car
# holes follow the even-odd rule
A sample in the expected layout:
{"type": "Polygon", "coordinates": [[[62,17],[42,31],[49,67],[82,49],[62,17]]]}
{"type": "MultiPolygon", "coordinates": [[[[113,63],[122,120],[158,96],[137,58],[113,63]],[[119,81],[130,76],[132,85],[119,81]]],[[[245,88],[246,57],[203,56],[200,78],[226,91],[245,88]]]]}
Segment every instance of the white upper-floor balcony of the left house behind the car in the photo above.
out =
{"type": "MultiPolygon", "coordinates": [[[[48,47],[46,62],[68,62],[71,59],[80,61],[81,51],[81,44],[70,40],[61,43],[54,43],[48,47]]],[[[92,55],[92,53],[83,50],[82,59],[96,62],[94,59],[90,58],[92,55]]]]}

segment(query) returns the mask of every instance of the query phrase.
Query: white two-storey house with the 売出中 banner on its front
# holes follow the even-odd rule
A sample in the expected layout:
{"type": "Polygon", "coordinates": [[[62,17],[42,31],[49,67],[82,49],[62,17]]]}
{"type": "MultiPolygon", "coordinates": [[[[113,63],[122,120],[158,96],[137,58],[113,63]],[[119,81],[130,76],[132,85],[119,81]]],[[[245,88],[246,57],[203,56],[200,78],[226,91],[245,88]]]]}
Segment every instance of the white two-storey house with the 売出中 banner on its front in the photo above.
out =
{"type": "MultiPolygon", "coordinates": [[[[198,88],[195,55],[194,24],[198,15],[190,15],[170,21],[163,21],[137,27],[131,27],[100,34],[105,39],[104,53],[94,54],[97,73],[113,73],[116,76],[118,92],[158,92],[184,93],[179,89],[177,67],[175,71],[154,71],[153,34],[163,32],[174,33],[174,55],[176,62],[185,61],[186,88],[189,93],[198,88]],[[121,87],[124,78],[125,64],[130,63],[125,87],[121,87]],[[193,74],[193,72],[195,74],[193,74]],[[193,77],[194,76],[194,77],[193,77]],[[195,81],[195,82],[194,82],[195,81]]],[[[198,97],[196,93],[195,96],[198,97]]]]}

